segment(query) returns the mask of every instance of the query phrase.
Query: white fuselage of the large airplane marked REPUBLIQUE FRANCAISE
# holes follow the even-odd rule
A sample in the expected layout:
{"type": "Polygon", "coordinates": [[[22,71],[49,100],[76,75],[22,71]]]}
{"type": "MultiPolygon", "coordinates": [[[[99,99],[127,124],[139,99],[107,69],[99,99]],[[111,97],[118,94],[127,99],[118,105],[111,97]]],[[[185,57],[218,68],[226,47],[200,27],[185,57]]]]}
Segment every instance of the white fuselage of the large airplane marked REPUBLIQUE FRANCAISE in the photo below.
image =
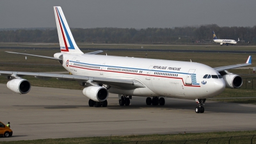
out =
{"type": "MultiPolygon", "coordinates": [[[[54,57],[60,54],[63,53],[57,53],[54,57]]],[[[206,99],[220,94],[225,89],[222,78],[203,78],[205,74],[220,74],[201,63],[94,54],[63,54],[63,67],[77,76],[136,79],[145,85],[145,88],[134,90],[109,89],[111,93],[124,95],[206,99]]]]}

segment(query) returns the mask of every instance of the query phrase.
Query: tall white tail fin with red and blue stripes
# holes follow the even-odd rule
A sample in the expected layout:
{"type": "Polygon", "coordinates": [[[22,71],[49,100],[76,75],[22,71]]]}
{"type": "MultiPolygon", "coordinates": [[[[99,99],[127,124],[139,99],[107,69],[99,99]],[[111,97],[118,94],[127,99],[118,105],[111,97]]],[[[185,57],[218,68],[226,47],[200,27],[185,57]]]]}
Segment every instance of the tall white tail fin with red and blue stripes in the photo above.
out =
{"type": "Polygon", "coordinates": [[[65,53],[83,54],[76,45],[61,7],[54,6],[53,8],[60,41],[60,51],[65,53]]]}

